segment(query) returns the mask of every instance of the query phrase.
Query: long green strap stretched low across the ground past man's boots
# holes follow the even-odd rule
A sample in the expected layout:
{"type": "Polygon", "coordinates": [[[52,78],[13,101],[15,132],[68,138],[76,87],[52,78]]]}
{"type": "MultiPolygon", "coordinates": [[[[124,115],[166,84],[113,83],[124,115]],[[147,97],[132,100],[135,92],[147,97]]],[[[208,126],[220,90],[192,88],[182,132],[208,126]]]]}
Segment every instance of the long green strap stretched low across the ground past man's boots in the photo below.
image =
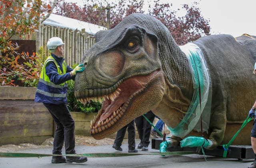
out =
{"type": "Polygon", "coordinates": [[[35,153],[9,153],[9,152],[0,152],[0,158],[41,158],[45,156],[83,156],[83,157],[92,157],[92,158],[104,158],[104,157],[122,157],[122,156],[134,156],[134,155],[184,155],[184,154],[197,154],[193,151],[175,151],[175,152],[156,152],[156,153],[87,153],[87,154],[35,154],[35,153]]]}

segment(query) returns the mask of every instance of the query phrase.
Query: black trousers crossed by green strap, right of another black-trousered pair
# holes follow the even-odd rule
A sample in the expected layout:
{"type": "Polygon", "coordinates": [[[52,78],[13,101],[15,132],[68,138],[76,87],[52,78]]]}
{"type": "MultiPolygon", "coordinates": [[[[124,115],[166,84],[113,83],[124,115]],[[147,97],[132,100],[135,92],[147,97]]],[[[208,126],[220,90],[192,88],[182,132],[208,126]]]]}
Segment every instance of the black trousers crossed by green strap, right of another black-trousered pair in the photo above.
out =
{"type": "MultiPolygon", "coordinates": [[[[150,110],[146,114],[144,114],[151,123],[153,123],[155,114],[150,110]]],[[[144,116],[139,116],[135,118],[136,127],[139,133],[140,143],[142,146],[148,147],[150,140],[150,132],[151,132],[151,125],[150,123],[144,118],[144,116]]]]}

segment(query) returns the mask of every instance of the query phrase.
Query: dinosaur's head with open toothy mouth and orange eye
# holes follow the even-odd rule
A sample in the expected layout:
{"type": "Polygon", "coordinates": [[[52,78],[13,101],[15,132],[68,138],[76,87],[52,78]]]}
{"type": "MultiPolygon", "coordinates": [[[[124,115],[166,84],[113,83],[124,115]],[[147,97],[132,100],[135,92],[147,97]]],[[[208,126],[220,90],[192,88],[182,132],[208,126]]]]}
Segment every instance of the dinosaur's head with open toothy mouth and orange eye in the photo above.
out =
{"type": "Polygon", "coordinates": [[[105,138],[152,110],[164,94],[164,72],[158,38],[124,21],[96,34],[96,44],[83,56],[85,70],[76,75],[74,94],[82,103],[102,102],[90,134],[105,138]]]}

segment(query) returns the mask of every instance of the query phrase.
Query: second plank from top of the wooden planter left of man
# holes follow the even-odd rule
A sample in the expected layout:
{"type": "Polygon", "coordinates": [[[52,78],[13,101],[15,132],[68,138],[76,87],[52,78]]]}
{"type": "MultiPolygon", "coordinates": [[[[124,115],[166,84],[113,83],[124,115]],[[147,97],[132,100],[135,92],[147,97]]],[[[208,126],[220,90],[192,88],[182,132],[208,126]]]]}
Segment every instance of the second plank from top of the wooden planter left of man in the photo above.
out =
{"type": "Polygon", "coordinates": [[[34,100],[0,100],[0,114],[7,112],[48,112],[43,103],[34,100]]]}

